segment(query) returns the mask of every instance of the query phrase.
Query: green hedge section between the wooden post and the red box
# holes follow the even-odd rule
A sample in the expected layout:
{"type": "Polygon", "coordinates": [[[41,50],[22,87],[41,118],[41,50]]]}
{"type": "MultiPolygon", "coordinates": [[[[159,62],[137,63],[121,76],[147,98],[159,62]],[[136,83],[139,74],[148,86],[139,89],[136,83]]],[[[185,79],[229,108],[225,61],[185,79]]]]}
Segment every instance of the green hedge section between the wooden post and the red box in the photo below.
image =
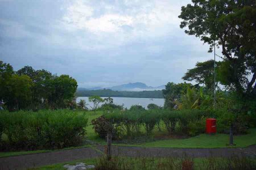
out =
{"type": "MultiPolygon", "coordinates": [[[[205,118],[212,113],[199,109],[175,110],[170,109],[144,109],[134,106],[126,111],[115,110],[105,113],[104,116],[115,127],[122,129],[122,135],[135,137],[141,135],[141,127],[144,126],[146,134],[150,135],[156,126],[162,121],[169,134],[179,130],[187,135],[197,135],[205,131],[205,118]]],[[[94,129],[101,137],[106,135],[106,123],[102,118],[93,121],[94,129]],[[102,121],[100,121],[100,119],[102,121]],[[102,133],[102,135],[100,134],[102,133]]],[[[121,135],[119,134],[119,137],[121,135]]]]}

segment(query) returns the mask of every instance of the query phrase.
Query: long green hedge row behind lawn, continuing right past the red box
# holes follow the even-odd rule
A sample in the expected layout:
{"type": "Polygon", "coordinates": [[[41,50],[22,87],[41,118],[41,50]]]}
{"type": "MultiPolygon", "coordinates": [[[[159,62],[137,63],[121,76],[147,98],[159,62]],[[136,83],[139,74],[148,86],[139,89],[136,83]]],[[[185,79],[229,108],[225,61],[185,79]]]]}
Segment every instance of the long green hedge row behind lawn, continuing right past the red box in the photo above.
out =
{"type": "MultiPolygon", "coordinates": [[[[146,134],[152,134],[160,122],[162,122],[168,131],[171,133],[181,133],[189,136],[195,136],[205,132],[206,118],[217,118],[217,131],[218,133],[228,133],[230,128],[230,122],[233,124],[235,134],[244,134],[247,132],[248,119],[250,115],[234,116],[233,113],[224,112],[224,110],[218,111],[204,111],[201,109],[182,109],[182,110],[170,110],[170,109],[144,109],[142,107],[133,107],[133,109],[120,111],[114,110],[109,113],[105,113],[104,116],[108,119],[111,125],[113,125],[118,137],[138,137],[142,135],[141,128],[144,127],[146,134]],[[117,130],[118,129],[118,130],[117,130]]],[[[97,127],[98,133],[101,137],[105,137],[106,128],[104,121],[98,121],[94,123],[97,127]],[[97,124],[97,125],[96,125],[97,124]],[[102,135],[100,134],[102,133],[102,135]]],[[[96,129],[96,128],[94,128],[96,129]]]]}

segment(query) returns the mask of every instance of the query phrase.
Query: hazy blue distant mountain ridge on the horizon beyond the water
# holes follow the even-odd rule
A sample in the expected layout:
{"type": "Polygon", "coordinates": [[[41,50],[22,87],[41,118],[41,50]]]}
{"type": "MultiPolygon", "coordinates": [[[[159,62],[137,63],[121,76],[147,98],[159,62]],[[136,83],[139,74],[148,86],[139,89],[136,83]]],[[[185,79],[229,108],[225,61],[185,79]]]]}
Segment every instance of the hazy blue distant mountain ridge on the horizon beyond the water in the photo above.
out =
{"type": "Polygon", "coordinates": [[[121,84],[119,86],[113,87],[93,87],[93,88],[79,88],[78,90],[103,90],[103,89],[110,89],[113,91],[152,91],[152,90],[163,90],[165,88],[164,85],[158,87],[151,87],[147,86],[144,83],[136,82],[136,83],[127,83],[121,84]]]}

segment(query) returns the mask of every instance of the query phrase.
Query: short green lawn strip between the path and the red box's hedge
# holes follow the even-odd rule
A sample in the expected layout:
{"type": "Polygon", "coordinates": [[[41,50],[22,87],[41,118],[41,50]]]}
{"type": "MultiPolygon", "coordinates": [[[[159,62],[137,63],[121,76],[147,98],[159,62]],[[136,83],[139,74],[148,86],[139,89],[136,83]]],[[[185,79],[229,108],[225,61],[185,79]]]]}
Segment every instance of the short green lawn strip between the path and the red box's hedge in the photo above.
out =
{"type": "MultiPolygon", "coordinates": [[[[133,146],[143,146],[143,147],[175,147],[175,148],[220,148],[220,147],[230,147],[226,146],[229,142],[228,134],[200,134],[196,137],[191,137],[187,139],[168,139],[160,140],[155,142],[140,143],[139,145],[133,146]]],[[[234,143],[236,146],[232,147],[246,147],[250,145],[256,145],[256,128],[250,129],[250,133],[246,135],[234,136],[234,143]]],[[[129,145],[123,145],[129,146],[129,145]]]]}

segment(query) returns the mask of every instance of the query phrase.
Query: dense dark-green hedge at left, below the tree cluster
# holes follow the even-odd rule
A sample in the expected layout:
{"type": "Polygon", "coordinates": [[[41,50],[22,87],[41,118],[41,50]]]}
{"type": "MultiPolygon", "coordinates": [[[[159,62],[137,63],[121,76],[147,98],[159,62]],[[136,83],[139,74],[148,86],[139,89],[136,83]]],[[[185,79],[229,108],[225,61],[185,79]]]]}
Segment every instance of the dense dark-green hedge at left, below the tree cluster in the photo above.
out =
{"type": "Polygon", "coordinates": [[[87,119],[69,110],[0,112],[6,150],[63,148],[84,139],[87,119]]]}

